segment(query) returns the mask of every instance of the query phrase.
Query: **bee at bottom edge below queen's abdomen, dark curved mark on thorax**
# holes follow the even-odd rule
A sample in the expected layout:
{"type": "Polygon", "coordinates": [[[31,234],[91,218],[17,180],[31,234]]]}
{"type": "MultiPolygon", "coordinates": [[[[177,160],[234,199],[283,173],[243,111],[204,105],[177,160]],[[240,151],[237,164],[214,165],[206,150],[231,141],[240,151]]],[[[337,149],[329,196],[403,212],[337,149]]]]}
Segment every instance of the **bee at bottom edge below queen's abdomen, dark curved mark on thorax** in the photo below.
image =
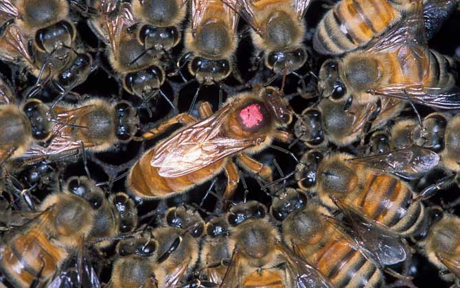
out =
{"type": "Polygon", "coordinates": [[[198,263],[205,222],[198,212],[183,206],[170,208],[165,222],[168,226],[153,230],[158,242],[154,274],[158,287],[173,288],[185,280],[198,263]]]}

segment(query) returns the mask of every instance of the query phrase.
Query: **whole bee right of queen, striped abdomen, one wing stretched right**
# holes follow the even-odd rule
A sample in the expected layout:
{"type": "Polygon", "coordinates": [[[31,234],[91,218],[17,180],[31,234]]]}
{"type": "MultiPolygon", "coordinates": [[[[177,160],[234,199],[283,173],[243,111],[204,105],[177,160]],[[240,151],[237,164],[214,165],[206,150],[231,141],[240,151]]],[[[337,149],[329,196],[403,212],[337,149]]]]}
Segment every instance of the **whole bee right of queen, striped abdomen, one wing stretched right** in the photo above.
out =
{"type": "Polygon", "coordinates": [[[424,205],[413,201],[415,193],[401,178],[420,178],[438,163],[439,156],[422,147],[360,158],[343,153],[323,156],[311,150],[301,158],[295,178],[301,189],[316,191],[323,204],[352,219],[360,237],[371,238],[363,243],[375,243],[379,237],[364,232],[366,227],[381,226],[381,235],[386,230],[400,237],[424,232],[424,205]]]}

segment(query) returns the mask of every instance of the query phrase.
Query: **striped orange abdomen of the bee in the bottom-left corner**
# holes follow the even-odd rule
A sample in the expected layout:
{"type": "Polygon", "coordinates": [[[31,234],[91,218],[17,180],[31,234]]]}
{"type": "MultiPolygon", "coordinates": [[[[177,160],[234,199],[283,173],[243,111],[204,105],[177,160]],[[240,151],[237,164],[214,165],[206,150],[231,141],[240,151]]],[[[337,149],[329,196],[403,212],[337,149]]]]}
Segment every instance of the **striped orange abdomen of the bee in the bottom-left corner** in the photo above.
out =
{"type": "Polygon", "coordinates": [[[30,230],[0,248],[0,269],[15,287],[45,283],[66,256],[43,232],[30,230]]]}

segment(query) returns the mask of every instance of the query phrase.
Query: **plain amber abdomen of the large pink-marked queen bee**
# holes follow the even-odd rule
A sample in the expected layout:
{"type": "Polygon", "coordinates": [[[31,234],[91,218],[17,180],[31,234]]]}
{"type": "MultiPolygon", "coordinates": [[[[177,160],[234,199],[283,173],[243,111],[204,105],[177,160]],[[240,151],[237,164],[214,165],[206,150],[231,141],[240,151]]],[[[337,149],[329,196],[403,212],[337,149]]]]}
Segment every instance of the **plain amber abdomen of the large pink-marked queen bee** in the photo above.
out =
{"type": "Polygon", "coordinates": [[[216,176],[227,161],[227,158],[224,158],[187,175],[165,178],[159,176],[157,167],[150,165],[153,155],[154,148],[143,154],[135,165],[133,165],[128,175],[128,187],[133,193],[142,197],[162,197],[169,193],[187,191],[196,184],[201,184],[216,176]]]}

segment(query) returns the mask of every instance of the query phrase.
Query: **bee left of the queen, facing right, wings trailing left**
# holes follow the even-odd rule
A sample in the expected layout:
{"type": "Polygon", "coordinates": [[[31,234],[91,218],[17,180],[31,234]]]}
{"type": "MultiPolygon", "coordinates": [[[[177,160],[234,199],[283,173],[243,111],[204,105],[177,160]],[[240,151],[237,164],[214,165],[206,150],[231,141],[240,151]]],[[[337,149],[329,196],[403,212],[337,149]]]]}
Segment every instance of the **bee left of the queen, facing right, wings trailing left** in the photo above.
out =
{"type": "Polygon", "coordinates": [[[41,160],[88,149],[91,152],[113,149],[129,142],[139,125],[139,117],[128,101],[110,104],[89,99],[79,106],[54,107],[56,124],[46,146],[32,143],[22,158],[41,160]]]}

